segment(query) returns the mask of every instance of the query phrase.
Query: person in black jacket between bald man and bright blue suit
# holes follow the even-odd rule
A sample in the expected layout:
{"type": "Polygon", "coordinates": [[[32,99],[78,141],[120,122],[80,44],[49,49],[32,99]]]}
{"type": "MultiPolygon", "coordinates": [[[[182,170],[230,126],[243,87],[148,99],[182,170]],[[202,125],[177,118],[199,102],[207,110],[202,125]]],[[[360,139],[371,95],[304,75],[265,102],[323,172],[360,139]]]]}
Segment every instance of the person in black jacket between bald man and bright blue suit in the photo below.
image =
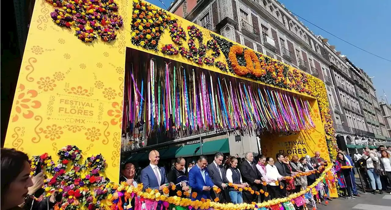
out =
{"type": "Polygon", "coordinates": [[[176,158],[176,161],[174,163],[174,168],[170,170],[167,176],[168,181],[174,183],[176,187],[175,190],[170,190],[169,193],[170,196],[178,196],[177,191],[180,190],[181,197],[186,198],[184,192],[190,190],[189,181],[187,179],[187,176],[183,172],[183,169],[185,168],[185,164],[186,164],[185,158],[183,157],[176,158]]]}

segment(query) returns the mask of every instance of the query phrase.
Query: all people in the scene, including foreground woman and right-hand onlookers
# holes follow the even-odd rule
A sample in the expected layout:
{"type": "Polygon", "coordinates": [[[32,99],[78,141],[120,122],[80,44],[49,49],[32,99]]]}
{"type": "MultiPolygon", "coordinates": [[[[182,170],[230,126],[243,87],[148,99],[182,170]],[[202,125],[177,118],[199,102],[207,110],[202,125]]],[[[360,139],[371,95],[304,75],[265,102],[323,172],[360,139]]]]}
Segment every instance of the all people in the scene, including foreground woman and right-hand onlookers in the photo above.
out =
{"type": "MultiPolygon", "coordinates": [[[[197,193],[193,200],[204,198],[221,203],[252,203],[284,198],[300,192],[319,178],[320,167],[328,165],[328,161],[321,157],[319,151],[315,152],[314,157],[293,155],[291,160],[284,153],[276,154],[275,158],[262,155],[255,158],[251,152],[245,153],[244,156],[244,159],[239,158],[239,155],[224,157],[217,152],[214,160],[208,164],[208,158],[201,155],[196,162],[188,164],[187,170],[185,159],[178,157],[172,169],[166,171],[164,167],[158,166],[159,151],[152,150],[149,153],[149,165],[139,171],[139,179],[136,179],[137,170],[133,163],[127,162],[121,166],[120,183],[126,182],[135,187],[142,183],[143,190],[175,188],[182,192],[180,194],[183,197],[188,195],[185,192],[191,190],[197,193]],[[303,175],[303,172],[312,173],[303,175]],[[298,173],[301,173],[301,176],[295,176],[298,173]],[[219,189],[218,192],[215,189],[219,189]],[[240,189],[251,189],[254,192],[263,190],[268,193],[251,193],[251,190],[240,189]]],[[[338,151],[334,168],[339,186],[343,190],[342,196],[345,198],[354,199],[359,196],[352,169],[355,164],[375,194],[376,190],[382,194],[384,189],[390,187],[391,148],[366,148],[362,154],[354,154],[354,161],[346,152],[338,151]]],[[[0,210],[51,209],[57,200],[61,200],[56,198],[57,193],[54,192],[49,198],[34,203],[32,197],[43,186],[44,176],[38,173],[30,177],[30,173],[29,158],[25,153],[15,149],[0,149],[0,210]]],[[[327,185],[324,190],[327,195],[327,185]]],[[[169,194],[175,196],[178,192],[171,190],[169,194]]],[[[321,199],[330,198],[326,196],[321,199]]]]}

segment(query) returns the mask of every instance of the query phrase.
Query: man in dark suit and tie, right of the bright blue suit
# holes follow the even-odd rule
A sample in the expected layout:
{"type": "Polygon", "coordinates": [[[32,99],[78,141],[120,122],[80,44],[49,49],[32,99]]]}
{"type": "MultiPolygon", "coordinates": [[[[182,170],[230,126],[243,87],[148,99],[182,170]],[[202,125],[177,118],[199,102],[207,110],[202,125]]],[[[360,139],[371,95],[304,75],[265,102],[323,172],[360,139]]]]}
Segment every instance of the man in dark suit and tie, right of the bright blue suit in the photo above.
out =
{"type": "Polygon", "coordinates": [[[211,164],[208,165],[209,176],[212,179],[212,182],[221,189],[219,194],[211,193],[212,197],[219,198],[221,203],[226,202],[226,187],[228,186],[228,180],[226,178],[226,171],[222,167],[222,161],[224,160],[224,156],[221,152],[217,152],[215,154],[215,160],[211,164]]]}

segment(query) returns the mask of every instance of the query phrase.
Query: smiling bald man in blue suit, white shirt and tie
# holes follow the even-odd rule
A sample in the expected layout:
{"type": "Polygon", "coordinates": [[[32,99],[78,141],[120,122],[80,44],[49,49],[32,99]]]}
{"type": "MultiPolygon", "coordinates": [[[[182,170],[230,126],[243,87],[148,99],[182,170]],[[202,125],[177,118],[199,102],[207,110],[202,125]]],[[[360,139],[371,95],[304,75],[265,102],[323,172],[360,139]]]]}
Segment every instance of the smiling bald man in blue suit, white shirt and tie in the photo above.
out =
{"type": "Polygon", "coordinates": [[[164,167],[159,167],[160,154],[157,150],[149,152],[149,166],[141,171],[141,182],[143,183],[143,190],[147,188],[163,190],[167,185],[168,180],[164,167]]]}

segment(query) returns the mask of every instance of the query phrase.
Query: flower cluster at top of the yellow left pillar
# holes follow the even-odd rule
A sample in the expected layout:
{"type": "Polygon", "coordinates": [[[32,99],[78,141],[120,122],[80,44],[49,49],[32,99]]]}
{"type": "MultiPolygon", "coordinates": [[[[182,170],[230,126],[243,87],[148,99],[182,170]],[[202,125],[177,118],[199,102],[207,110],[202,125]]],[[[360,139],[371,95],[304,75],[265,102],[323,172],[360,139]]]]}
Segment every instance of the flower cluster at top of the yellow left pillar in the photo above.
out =
{"type": "Polygon", "coordinates": [[[75,28],[75,36],[83,42],[100,37],[111,42],[117,37],[115,30],[123,25],[122,17],[115,14],[114,0],[46,0],[54,9],[50,17],[60,27],[75,28]]]}

